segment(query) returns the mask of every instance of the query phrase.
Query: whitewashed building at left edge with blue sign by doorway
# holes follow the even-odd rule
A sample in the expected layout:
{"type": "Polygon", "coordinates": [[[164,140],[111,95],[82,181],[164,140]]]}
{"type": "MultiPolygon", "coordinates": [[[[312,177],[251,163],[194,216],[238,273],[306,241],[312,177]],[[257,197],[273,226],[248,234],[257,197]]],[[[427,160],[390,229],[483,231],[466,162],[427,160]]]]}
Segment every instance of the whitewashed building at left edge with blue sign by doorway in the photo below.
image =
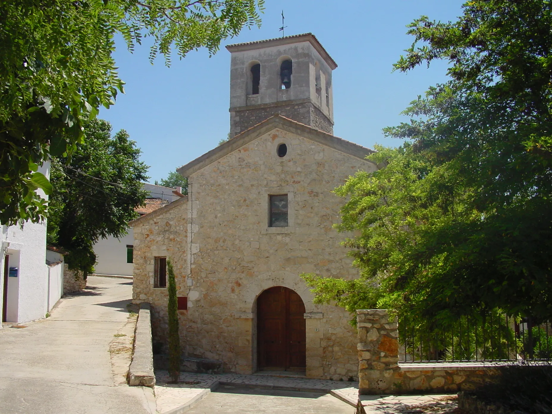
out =
{"type": "MultiPolygon", "coordinates": [[[[49,177],[50,163],[39,171],[49,177]]],[[[47,199],[42,190],[37,192],[47,199]]],[[[63,257],[46,254],[46,221],[2,226],[0,241],[2,322],[43,318],[63,293],[63,257]]]]}

